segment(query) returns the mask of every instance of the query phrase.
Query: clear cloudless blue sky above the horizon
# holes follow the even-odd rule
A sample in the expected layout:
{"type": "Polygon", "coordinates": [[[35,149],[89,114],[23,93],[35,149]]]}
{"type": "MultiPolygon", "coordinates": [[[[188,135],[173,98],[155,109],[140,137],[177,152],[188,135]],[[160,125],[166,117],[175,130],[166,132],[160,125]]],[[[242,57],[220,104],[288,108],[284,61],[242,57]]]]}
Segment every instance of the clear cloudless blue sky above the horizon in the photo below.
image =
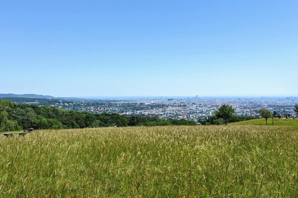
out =
{"type": "Polygon", "coordinates": [[[0,93],[295,95],[298,1],[0,1],[0,93]]]}

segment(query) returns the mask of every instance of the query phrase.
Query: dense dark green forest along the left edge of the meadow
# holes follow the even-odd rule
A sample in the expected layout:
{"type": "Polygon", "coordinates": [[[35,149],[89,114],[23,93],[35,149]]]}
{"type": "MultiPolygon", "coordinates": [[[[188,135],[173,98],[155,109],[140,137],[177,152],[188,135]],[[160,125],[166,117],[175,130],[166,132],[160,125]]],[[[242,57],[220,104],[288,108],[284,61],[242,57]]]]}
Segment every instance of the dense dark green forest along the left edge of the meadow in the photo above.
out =
{"type": "Polygon", "coordinates": [[[194,120],[165,120],[157,117],[92,114],[86,111],[63,110],[51,106],[18,105],[0,100],[0,131],[25,128],[66,129],[109,126],[196,125],[194,120]]]}

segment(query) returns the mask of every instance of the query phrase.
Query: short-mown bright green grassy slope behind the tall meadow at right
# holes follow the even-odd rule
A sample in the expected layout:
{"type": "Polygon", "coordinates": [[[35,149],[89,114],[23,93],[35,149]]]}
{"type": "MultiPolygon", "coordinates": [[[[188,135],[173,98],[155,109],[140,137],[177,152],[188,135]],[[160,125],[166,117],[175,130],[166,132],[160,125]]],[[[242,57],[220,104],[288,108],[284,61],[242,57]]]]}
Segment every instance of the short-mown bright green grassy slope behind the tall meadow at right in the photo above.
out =
{"type": "MultiPolygon", "coordinates": [[[[246,120],[242,122],[230,123],[229,125],[266,125],[265,119],[246,120]]],[[[272,125],[272,118],[268,119],[268,125],[272,125]]],[[[292,126],[298,128],[298,119],[278,119],[274,118],[276,126],[292,126]]]]}

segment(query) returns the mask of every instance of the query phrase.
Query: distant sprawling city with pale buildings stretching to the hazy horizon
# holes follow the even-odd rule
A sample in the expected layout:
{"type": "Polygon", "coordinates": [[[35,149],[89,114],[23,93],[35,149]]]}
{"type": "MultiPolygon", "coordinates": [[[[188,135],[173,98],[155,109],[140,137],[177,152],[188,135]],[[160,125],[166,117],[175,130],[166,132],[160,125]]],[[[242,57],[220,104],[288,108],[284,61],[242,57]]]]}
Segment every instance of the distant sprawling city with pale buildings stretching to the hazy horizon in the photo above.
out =
{"type": "MultiPolygon", "coordinates": [[[[165,119],[186,119],[196,122],[213,116],[222,104],[235,108],[238,116],[258,117],[260,108],[276,111],[277,114],[294,115],[298,97],[89,97],[55,98],[38,95],[39,98],[5,97],[17,104],[52,106],[65,110],[88,111],[91,113],[117,113],[126,116],[159,117],[165,119]],[[47,98],[48,97],[48,98],[47,98]]],[[[34,97],[34,95],[32,96],[34,97]]]]}

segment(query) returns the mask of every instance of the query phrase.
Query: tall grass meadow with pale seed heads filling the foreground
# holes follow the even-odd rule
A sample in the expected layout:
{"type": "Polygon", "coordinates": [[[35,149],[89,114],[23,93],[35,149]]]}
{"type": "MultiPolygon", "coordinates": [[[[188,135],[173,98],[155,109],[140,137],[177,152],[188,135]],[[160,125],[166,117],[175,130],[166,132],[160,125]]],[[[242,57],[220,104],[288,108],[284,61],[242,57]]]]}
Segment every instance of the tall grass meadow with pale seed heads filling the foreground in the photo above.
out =
{"type": "Polygon", "coordinates": [[[0,136],[0,197],[297,197],[297,134],[228,125],[0,136]]]}

